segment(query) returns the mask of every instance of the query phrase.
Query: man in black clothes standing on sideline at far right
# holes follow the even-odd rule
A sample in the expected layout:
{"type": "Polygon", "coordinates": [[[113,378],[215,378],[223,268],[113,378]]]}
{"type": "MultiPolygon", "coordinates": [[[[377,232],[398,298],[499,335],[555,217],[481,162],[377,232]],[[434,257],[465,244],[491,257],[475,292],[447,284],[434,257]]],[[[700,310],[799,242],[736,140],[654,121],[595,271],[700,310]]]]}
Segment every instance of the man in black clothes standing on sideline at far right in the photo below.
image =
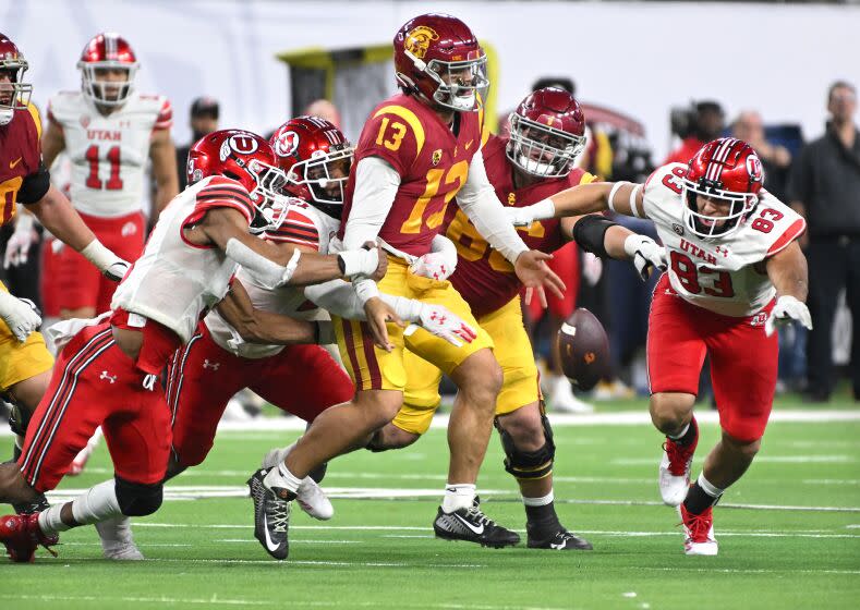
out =
{"type": "Polygon", "coordinates": [[[827,91],[825,133],[801,151],[791,170],[791,206],[809,222],[809,308],[814,328],[807,345],[807,399],[829,400],[836,385],[833,322],[846,290],[853,320],[849,363],[860,400],[860,135],[853,122],[857,90],[838,81],[827,91]]]}

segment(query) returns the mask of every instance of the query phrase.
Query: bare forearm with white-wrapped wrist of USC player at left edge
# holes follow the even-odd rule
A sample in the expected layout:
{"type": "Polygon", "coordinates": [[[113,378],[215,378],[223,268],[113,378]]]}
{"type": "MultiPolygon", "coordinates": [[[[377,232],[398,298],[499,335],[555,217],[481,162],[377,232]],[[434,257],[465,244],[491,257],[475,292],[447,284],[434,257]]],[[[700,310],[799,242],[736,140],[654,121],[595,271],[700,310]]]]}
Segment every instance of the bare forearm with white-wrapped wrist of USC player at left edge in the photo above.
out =
{"type": "MultiPolygon", "coordinates": [[[[37,180],[44,180],[50,184],[48,171],[43,168],[39,173],[44,178],[37,180]]],[[[31,180],[31,176],[27,176],[27,180],[31,180]]],[[[27,184],[26,188],[35,188],[35,186],[27,184]]],[[[28,200],[33,200],[31,194],[22,188],[19,199],[27,205],[27,209],[39,219],[43,227],[58,240],[84,255],[107,278],[113,281],[120,281],[123,278],[125,271],[129,270],[129,264],[96,239],[93,231],[77,216],[65,195],[53,186],[47,186],[35,203],[27,204],[28,200]]]]}

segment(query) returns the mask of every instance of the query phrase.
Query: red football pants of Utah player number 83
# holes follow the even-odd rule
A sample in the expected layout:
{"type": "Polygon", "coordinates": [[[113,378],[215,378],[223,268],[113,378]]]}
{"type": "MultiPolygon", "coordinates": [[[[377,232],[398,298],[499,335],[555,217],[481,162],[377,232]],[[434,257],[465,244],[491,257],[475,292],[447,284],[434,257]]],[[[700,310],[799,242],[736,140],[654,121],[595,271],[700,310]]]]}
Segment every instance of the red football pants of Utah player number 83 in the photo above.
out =
{"type": "Polygon", "coordinates": [[[719,425],[742,441],[762,438],[774,401],[779,343],[764,334],[773,303],[746,318],[720,316],[681,298],[664,274],[654,289],[647,333],[651,393],[699,391],[705,353],[719,425]]]}

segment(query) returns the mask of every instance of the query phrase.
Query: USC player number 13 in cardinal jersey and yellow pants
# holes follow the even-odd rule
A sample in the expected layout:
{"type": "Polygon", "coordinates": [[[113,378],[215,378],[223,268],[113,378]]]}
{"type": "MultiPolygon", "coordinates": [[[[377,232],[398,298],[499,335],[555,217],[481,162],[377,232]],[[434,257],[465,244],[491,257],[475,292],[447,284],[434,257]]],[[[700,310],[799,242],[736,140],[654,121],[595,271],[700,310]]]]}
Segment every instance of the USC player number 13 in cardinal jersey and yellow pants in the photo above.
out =
{"type": "MultiPolygon", "coordinates": [[[[449,282],[410,269],[429,254],[446,207],[458,193],[459,206],[523,283],[541,296],[544,285],[560,294],[562,282],[544,263],[549,256],[523,243],[505,220],[486,179],[481,154],[486,56],[472,30],[449,15],[421,15],[398,30],[393,51],[402,93],[377,106],[362,130],[339,233],[347,248],[378,239],[389,253],[378,289],[371,281],[355,282],[360,297],[381,290],[444,305],[469,327],[475,326],[469,306],[449,282]]],[[[366,443],[395,417],[403,402],[403,358],[409,347],[444,368],[460,388],[449,427],[452,465],[439,511],[440,520],[459,525],[437,534],[490,546],[517,544],[519,536],[488,520],[475,501],[475,480],[501,386],[489,337],[479,331],[473,338],[464,329],[469,342],[458,347],[423,329],[404,331],[389,325],[389,344],[379,349],[366,325],[337,317],[334,322],[343,363],[355,382],[355,398],[317,417],[284,464],[254,475],[258,538],[265,534],[275,540],[279,550],[272,554],[286,557],[287,530],[272,532],[266,515],[294,498],[312,468],[366,443]]]]}

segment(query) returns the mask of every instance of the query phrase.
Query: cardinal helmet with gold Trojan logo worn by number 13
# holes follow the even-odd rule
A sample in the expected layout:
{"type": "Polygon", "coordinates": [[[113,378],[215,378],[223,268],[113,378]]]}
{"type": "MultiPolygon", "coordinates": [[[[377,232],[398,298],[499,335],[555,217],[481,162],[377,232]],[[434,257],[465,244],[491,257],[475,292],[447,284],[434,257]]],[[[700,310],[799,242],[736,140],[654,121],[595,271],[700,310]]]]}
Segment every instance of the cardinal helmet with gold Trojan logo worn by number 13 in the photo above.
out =
{"type": "Polygon", "coordinates": [[[487,57],[472,30],[451,15],[420,15],[395,36],[398,84],[431,105],[480,110],[489,87],[486,66],[487,57]]]}

